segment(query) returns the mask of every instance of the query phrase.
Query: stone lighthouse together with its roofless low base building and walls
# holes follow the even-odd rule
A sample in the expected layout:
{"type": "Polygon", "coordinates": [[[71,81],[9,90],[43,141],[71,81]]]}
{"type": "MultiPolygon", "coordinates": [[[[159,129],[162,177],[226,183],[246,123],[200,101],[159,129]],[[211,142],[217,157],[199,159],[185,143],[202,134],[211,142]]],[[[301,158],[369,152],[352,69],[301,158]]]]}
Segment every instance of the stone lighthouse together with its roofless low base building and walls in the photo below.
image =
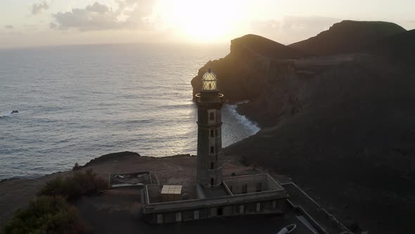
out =
{"type": "Polygon", "coordinates": [[[283,217],[283,225],[295,224],[298,233],[350,233],[294,183],[281,184],[267,173],[223,177],[221,110],[224,95],[219,92],[217,77],[211,69],[203,75],[196,104],[196,180],[180,185],[144,185],[141,211],[148,223],[274,214],[283,217]],[[324,225],[319,221],[324,221],[324,225]]]}

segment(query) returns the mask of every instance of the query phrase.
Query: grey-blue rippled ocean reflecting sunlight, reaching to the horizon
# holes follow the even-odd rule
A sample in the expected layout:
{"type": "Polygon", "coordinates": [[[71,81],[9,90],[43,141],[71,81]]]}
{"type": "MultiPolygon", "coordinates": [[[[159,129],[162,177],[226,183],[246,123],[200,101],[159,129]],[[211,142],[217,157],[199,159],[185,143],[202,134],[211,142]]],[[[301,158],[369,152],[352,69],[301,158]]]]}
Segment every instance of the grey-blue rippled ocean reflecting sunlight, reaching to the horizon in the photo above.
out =
{"type": "MultiPolygon", "coordinates": [[[[0,50],[0,180],[65,171],[113,152],[196,154],[190,82],[226,54],[229,46],[0,50]]],[[[223,147],[259,130],[236,104],[225,104],[222,118],[223,147]]]]}

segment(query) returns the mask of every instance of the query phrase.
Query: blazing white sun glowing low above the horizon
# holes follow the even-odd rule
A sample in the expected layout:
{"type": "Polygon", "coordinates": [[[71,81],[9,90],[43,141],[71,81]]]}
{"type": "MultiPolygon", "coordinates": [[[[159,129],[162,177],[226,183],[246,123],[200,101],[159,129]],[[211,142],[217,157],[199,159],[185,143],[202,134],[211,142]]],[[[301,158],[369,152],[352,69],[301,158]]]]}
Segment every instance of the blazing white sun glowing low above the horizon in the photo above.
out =
{"type": "Polygon", "coordinates": [[[191,42],[223,42],[236,29],[240,12],[233,1],[174,1],[165,9],[166,20],[191,42]]]}

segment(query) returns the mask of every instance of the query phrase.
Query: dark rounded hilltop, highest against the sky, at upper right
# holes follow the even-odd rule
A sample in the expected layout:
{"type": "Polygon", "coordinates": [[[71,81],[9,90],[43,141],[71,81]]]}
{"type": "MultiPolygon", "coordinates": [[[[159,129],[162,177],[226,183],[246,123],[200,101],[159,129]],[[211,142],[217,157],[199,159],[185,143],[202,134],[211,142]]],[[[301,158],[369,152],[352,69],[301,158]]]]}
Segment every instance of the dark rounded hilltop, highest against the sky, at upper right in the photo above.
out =
{"type": "Polygon", "coordinates": [[[371,42],[405,31],[395,23],[343,20],[317,36],[289,47],[317,56],[348,54],[362,51],[371,42]]]}

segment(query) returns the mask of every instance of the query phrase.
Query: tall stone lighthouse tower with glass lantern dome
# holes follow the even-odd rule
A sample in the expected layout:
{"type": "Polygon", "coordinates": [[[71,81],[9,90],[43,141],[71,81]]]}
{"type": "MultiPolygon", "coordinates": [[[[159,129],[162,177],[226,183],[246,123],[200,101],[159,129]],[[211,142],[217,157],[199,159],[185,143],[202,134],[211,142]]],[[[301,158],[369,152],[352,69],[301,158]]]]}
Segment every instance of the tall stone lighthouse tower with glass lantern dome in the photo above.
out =
{"type": "Polygon", "coordinates": [[[205,188],[222,184],[222,114],[224,95],[219,93],[212,69],[203,75],[198,106],[197,183],[205,188]]]}

